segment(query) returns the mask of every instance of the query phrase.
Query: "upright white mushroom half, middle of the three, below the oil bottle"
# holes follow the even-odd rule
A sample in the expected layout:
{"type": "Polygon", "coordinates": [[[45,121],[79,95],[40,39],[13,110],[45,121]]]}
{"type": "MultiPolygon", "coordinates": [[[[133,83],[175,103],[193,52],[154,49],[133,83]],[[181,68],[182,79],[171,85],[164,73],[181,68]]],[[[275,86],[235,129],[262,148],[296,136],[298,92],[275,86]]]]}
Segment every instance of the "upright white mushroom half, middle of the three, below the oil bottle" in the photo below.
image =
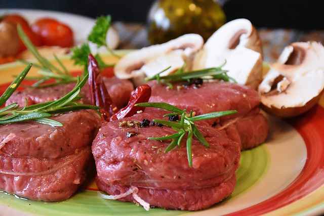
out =
{"type": "Polygon", "coordinates": [[[247,19],[219,28],[195,57],[193,69],[223,67],[239,84],[257,89],[262,80],[262,46],[257,30],[247,19]]]}

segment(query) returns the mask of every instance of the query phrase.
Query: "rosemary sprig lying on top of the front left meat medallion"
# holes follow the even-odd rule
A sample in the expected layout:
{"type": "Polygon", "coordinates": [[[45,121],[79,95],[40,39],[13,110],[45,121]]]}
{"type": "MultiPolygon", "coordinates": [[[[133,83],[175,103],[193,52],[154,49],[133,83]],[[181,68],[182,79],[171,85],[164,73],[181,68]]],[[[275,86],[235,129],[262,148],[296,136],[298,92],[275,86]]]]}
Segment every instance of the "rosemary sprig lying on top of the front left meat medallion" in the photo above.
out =
{"type": "MultiPolygon", "coordinates": [[[[9,85],[5,93],[0,97],[0,106],[6,103],[13,92],[19,87],[21,81],[27,75],[30,68],[31,64],[28,64],[28,66],[19,74],[19,76],[17,76],[16,79],[9,85]]],[[[33,120],[38,123],[48,124],[51,126],[63,126],[62,123],[49,119],[49,117],[51,117],[53,114],[74,110],[99,109],[97,106],[78,104],[76,102],[80,99],[80,89],[87,82],[88,76],[89,74],[86,74],[82,80],[77,77],[77,82],[73,90],[56,101],[31,106],[27,106],[28,102],[26,101],[26,105],[23,108],[19,107],[17,103],[13,103],[0,109],[0,124],[33,120]]]]}

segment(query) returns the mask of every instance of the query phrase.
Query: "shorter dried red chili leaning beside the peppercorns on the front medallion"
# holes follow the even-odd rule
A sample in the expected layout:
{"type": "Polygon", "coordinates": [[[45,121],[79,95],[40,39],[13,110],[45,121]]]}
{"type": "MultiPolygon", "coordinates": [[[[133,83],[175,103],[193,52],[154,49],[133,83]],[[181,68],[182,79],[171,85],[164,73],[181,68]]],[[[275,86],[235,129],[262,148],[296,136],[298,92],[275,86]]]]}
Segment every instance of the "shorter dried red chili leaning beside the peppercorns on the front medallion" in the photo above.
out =
{"type": "Polygon", "coordinates": [[[145,103],[151,97],[151,87],[148,84],[143,84],[137,87],[131,94],[128,105],[120,109],[116,114],[111,116],[111,120],[117,120],[124,117],[129,117],[136,114],[138,111],[144,111],[145,107],[136,107],[135,104],[145,103]]]}

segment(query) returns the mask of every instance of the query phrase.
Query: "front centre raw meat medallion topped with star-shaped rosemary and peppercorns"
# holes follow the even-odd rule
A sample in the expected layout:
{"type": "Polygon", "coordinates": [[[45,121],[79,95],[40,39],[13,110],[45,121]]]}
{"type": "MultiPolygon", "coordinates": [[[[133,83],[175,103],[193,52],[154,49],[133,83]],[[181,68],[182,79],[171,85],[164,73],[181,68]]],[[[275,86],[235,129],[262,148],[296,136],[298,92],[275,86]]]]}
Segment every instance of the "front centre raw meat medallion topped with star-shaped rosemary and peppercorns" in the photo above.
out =
{"type": "MultiPolygon", "coordinates": [[[[143,113],[121,120],[152,120],[163,118],[163,114],[164,111],[146,109],[143,113]]],[[[135,186],[139,188],[141,198],[152,202],[151,205],[172,209],[197,210],[224,199],[234,188],[239,144],[204,122],[197,124],[197,127],[210,143],[210,148],[193,139],[192,167],[189,167],[186,138],[180,148],[168,153],[164,153],[164,150],[170,141],[147,139],[173,134],[175,131],[172,128],[119,127],[118,120],[106,122],[92,146],[98,181],[101,183],[99,187],[110,194],[119,194],[123,191],[118,187],[127,190],[135,186]],[[127,133],[134,133],[135,136],[127,138],[127,133]],[[204,195],[201,193],[203,191],[211,192],[204,195]],[[193,197],[184,196],[183,193],[187,192],[193,197]],[[181,205],[174,201],[180,196],[183,197],[179,199],[181,205]],[[163,199],[164,202],[158,201],[163,199]]],[[[131,201],[128,198],[123,200],[131,201]]]]}

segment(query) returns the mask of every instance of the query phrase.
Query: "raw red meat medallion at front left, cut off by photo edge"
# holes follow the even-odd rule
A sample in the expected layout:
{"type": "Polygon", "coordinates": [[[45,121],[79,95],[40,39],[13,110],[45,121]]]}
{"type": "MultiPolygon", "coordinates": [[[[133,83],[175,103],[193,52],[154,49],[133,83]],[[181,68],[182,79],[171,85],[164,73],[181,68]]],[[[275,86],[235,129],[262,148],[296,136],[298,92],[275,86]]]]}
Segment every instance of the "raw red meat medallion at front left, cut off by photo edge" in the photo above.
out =
{"type": "Polygon", "coordinates": [[[92,168],[95,111],[60,114],[52,127],[32,121],[0,126],[0,190],[44,201],[69,198],[92,168]]]}

